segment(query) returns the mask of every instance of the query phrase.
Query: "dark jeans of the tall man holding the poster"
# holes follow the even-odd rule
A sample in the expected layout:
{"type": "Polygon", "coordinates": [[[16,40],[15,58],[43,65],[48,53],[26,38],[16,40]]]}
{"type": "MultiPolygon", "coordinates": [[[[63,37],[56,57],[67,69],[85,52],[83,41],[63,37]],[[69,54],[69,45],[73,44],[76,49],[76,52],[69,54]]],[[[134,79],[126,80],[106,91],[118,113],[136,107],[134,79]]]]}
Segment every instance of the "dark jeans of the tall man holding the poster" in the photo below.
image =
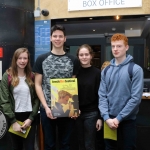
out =
{"type": "Polygon", "coordinates": [[[71,118],[49,119],[45,110],[40,108],[41,123],[44,134],[44,150],[56,149],[56,127],[60,142],[60,150],[70,150],[70,136],[74,128],[75,120],[71,118]]]}

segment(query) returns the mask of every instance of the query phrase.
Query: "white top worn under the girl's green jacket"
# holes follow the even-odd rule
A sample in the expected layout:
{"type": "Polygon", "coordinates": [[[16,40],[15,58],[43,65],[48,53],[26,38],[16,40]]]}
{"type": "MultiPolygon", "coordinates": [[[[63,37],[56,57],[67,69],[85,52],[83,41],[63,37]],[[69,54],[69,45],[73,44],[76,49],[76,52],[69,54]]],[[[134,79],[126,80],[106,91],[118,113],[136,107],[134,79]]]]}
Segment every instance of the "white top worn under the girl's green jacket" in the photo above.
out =
{"type": "Polygon", "coordinates": [[[31,112],[30,90],[25,82],[26,77],[19,77],[19,84],[14,87],[13,96],[15,99],[15,112],[31,112]]]}

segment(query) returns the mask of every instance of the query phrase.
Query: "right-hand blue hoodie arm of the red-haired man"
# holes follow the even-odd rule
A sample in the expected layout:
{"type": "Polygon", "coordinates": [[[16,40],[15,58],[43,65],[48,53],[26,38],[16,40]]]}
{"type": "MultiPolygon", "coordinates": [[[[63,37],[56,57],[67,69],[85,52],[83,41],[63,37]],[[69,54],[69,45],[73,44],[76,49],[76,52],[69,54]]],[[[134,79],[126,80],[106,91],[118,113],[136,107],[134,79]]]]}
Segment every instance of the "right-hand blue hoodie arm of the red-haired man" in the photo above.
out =
{"type": "Polygon", "coordinates": [[[133,72],[131,99],[114,119],[116,123],[117,121],[118,123],[121,122],[123,119],[131,115],[139,107],[139,104],[141,102],[143,93],[143,70],[141,67],[138,67],[138,69],[133,72]]]}

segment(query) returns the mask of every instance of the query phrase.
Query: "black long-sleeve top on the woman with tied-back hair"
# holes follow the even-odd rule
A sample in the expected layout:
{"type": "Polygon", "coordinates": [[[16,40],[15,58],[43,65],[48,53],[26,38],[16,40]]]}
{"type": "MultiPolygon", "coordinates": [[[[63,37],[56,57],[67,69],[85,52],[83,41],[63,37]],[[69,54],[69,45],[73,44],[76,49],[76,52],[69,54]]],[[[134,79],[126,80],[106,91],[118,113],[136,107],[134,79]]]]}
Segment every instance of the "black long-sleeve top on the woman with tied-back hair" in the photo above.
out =
{"type": "Polygon", "coordinates": [[[79,109],[81,112],[99,111],[98,89],[101,71],[93,66],[81,67],[77,74],[79,109]]]}

